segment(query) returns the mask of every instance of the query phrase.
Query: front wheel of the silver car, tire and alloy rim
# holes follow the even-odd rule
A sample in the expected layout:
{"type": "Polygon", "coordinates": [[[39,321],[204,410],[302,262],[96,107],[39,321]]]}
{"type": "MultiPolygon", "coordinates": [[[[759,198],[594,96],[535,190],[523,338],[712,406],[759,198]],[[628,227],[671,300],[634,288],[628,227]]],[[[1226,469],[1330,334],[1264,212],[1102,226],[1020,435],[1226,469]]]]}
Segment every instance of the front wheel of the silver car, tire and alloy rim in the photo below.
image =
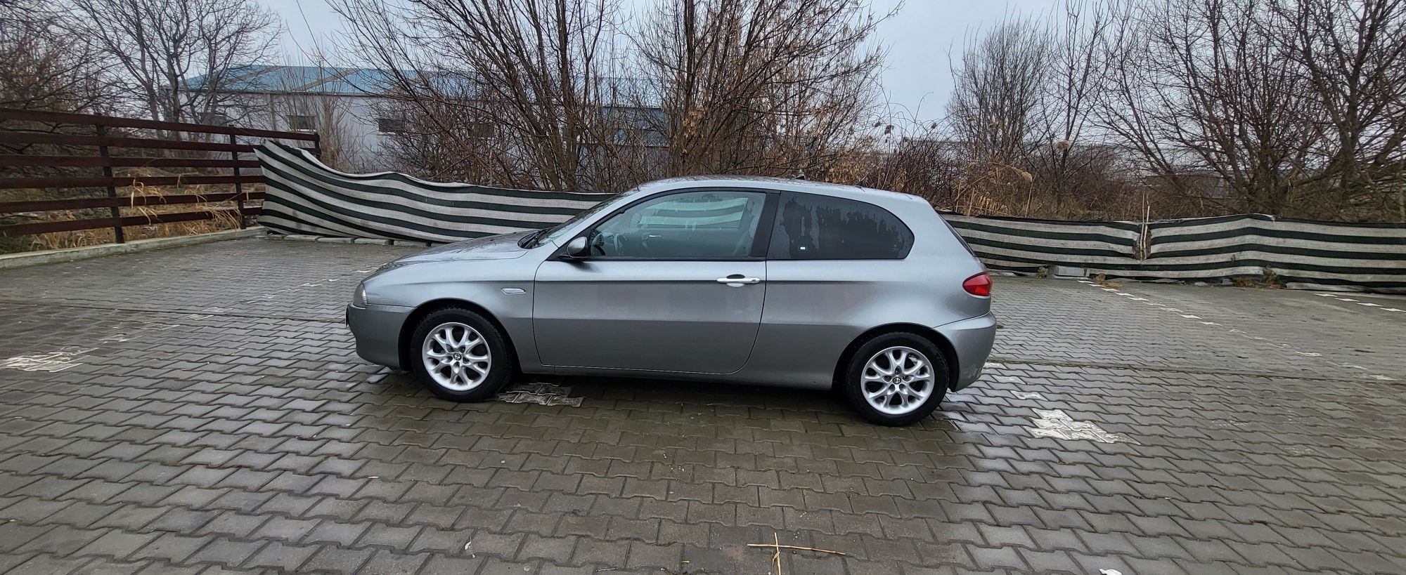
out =
{"type": "Polygon", "coordinates": [[[516,370],[516,358],[502,331],[463,307],[425,316],[406,345],[415,376],[430,393],[450,401],[492,398],[516,370]],[[444,345],[446,341],[451,345],[444,345]]]}

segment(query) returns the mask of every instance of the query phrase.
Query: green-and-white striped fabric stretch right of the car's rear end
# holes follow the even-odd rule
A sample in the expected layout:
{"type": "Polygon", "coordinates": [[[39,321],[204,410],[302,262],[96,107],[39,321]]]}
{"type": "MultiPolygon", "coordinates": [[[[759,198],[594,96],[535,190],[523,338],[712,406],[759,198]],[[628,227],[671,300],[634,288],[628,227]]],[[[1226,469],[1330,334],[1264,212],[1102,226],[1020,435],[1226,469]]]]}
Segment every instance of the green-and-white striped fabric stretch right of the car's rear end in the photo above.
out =
{"type": "Polygon", "coordinates": [[[1406,223],[1265,215],[1147,224],[943,217],[993,269],[1032,273],[1045,265],[1071,265],[1109,278],[1177,280],[1263,276],[1271,269],[1289,288],[1406,293],[1406,223]]]}

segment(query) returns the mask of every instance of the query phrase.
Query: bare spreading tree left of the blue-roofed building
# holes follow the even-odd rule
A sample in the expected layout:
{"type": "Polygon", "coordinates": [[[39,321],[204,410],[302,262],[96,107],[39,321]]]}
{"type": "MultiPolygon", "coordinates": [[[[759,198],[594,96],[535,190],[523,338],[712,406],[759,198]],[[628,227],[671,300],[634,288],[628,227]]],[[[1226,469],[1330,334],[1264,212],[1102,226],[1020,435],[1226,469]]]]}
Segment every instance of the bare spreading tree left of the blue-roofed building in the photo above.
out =
{"type": "Polygon", "coordinates": [[[257,63],[278,31],[254,0],[67,0],[69,29],[112,62],[152,119],[201,121],[231,97],[240,65],[257,63]],[[198,83],[187,83],[202,74],[198,83]]]}

